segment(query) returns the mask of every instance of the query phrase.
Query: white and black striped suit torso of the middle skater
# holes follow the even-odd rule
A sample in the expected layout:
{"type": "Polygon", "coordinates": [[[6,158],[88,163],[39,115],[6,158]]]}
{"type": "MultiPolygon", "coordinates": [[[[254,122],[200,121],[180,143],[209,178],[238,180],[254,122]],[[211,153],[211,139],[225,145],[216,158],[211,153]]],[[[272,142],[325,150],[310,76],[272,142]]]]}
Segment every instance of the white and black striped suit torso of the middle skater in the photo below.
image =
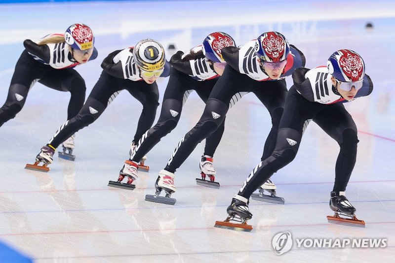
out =
{"type": "Polygon", "coordinates": [[[212,65],[210,65],[204,56],[197,59],[191,59],[189,61],[183,60],[185,56],[189,55],[191,52],[197,53],[201,50],[202,46],[200,45],[192,48],[185,54],[179,51],[171,57],[170,64],[178,71],[187,74],[192,79],[197,81],[204,81],[219,77],[219,75],[213,70],[212,65]]]}

